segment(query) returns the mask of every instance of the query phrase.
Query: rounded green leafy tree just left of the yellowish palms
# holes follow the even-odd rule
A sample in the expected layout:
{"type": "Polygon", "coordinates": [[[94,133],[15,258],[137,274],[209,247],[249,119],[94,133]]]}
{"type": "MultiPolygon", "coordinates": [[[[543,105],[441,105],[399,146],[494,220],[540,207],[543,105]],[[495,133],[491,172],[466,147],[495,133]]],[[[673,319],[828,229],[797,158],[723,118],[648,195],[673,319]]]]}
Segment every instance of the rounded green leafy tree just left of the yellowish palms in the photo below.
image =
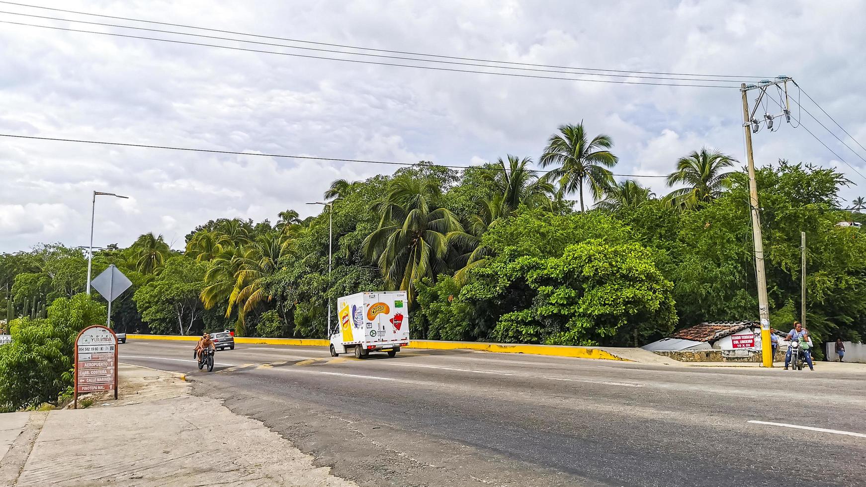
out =
{"type": "Polygon", "coordinates": [[[171,257],[163,272],[135,292],[135,304],[153,333],[190,334],[204,311],[199,295],[205,269],[203,263],[189,257],[171,257]]]}

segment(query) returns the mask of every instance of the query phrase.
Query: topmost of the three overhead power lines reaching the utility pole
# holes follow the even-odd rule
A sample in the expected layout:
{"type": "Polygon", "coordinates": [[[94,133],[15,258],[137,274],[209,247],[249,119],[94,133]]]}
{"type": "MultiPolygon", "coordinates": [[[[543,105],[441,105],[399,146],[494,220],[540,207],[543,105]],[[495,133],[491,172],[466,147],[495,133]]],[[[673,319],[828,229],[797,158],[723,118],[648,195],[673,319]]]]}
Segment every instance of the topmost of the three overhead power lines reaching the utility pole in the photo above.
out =
{"type": "MultiPolygon", "coordinates": [[[[197,27],[197,26],[194,26],[194,25],[187,25],[187,24],[183,24],[183,23],[157,22],[157,21],[144,20],[144,19],[137,19],[137,18],[132,18],[132,17],[123,17],[123,16],[107,16],[107,15],[102,15],[102,14],[94,14],[94,13],[89,13],[89,12],[82,12],[82,11],[79,11],[79,10],[64,10],[64,9],[56,9],[56,8],[52,8],[52,7],[43,7],[43,6],[41,6],[41,5],[30,5],[30,4],[28,4],[28,3],[16,3],[16,2],[5,2],[5,1],[0,1],[0,3],[7,3],[7,4],[10,4],[10,5],[18,5],[18,6],[21,6],[21,7],[29,7],[29,8],[33,8],[33,9],[55,10],[55,11],[58,11],[58,12],[66,12],[66,13],[77,14],[77,15],[82,15],[82,16],[97,16],[97,17],[112,18],[112,19],[117,19],[117,20],[126,20],[126,21],[132,21],[132,22],[153,23],[153,24],[158,24],[158,25],[167,25],[167,26],[171,26],[171,27],[182,27],[182,28],[184,28],[184,29],[198,29],[198,30],[207,30],[207,31],[210,31],[210,32],[221,32],[221,33],[223,33],[223,34],[248,35],[248,36],[250,36],[250,37],[259,37],[259,38],[262,38],[262,39],[272,39],[272,40],[276,40],[276,41],[300,42],[300,43],[305,43],[305,44],[315,44],[315,45],[320,45],[320,46],[330,46],[330,47],[333,47],[333,48],[349,48],[349,49],[364,50],[364,51],[374,51],[374,52],[382,52],[382,53],[391,53],[391,54],[421,55],[421,56],[428,56],[428,57],[438,57],[438,58],[443,58],[443,59],[455,59],[455,60],[460,60],[460,61],[494,62],[494,63],[499,63],[499,64],[511,64],[511,65],[515,65],[515,66],[553,67],[553,68],[559,68],[559,69],[574,69],[574,70],[583,70],[583,71],[598,71],[598,72],[604,72],[604,73],[665,74],[665,75],[670,75],[670,76],[702,76],[702,77],[736,78],[736,79],[746,79],[746,78],[764,79],[764,78],[770,78],[769,76],[745,76],[745,75],[744,75],[744,76],[740,76],[740,75],[734,75],[734,74],[688,74],[688,73],[663,73],[663,72],[657,72],[657,71],[634,71],[634,70],[621,70],[621,69],[602,69],[602,68],[594,68],[594,67],[567,67],[567,66],[555,66],[555,65],[548,65],[548,64],[535,64],[535,63],[530,63],[530,62],[496,61],[496,60],[488,60],[488,59],[480,59],[480,58],[471,58],[471,57],[450,56],[450,55],[443,55],[443,54],[425,54],[425,53],[417,53],[417,52],[411,52],[411,51],[398,51],[398,50],[391,50],[391,49],[364,48],[364,47],[358,47],[358,46],[349,46],[349,45],[346,45],[346,44],[335,44],[335,43],[331,43],[331,42],[304,41],[304,40],[301,40],[301,39],[291,39],[291,38],[287,38],[287,37],[275,37],[275,36],[272,36],[272,35],[249,34],[249,33],[245,33],[245,32],[236,32],[236,31],[232,31],[232,30],[224,30],[224,29],[210,29],[210,28],[206,28],[206,27],[197,27]]],[[[19,15],[26,15],[26,14],[19,14],[19,15]]],[[[63,19],[63,20],[68,20],[68,19],[63,19]]],[[[82,22],[82,21],[70,21],[70,22],[82,22]]],[[[132,28],[132,27],[131,27],[131,28],[129,28],[129,29],[136,29],[136,28],[132,28]]],[[[237,39],[236,39],[236,41],[240,41],[240,40],[237,40],[237,39]]],[[[247,41],[241,41],[241,42],[247,42],[247,41]]],[[[359,53],[346,53],[346,54],[359,54],[359,53]]],[[[430,60],[430,61],[432,61],[432,60],[430,60]]],[[[582,74],[582,73],[576,73],[576,74],[582,74]]],[[[700,80],[696,80],[696,81],[700,81],[700,80]]]]}

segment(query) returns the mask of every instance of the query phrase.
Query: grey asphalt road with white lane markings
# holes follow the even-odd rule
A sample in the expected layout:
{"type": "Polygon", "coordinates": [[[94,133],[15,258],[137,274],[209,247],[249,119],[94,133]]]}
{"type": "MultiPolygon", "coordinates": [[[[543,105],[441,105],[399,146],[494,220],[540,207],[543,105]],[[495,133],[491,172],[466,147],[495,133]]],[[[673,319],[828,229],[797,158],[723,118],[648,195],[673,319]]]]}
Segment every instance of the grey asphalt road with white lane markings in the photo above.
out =
{"type": "Polygon", "coordinates": [[[785,372],[415,349],[359,361],[239,344],[216,352],[209,374],[192,343],[159,341],[120,345],[120,359],[188,373],[197,394],[362,485],[866,484],[866,381],[820,363],[785,372]]]}

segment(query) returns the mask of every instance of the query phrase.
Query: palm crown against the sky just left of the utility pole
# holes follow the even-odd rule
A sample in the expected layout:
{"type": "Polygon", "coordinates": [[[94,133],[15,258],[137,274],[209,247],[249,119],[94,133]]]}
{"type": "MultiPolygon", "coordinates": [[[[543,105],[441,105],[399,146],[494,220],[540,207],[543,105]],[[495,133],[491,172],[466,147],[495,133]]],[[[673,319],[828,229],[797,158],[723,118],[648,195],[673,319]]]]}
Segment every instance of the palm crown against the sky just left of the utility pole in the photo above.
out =
{"type": "Polygon", "coordinates": [[[734,157],[707,147],[680,157],[676,162],[676,170],[668,175],[668,186],[685,183],[687,187],[671,191],[664,197],[665,202],[676,207],[689,208],[713,201],[729,185],[727,178],[731,172],[722,170],[734,163],[738,163],[734,157]]]}

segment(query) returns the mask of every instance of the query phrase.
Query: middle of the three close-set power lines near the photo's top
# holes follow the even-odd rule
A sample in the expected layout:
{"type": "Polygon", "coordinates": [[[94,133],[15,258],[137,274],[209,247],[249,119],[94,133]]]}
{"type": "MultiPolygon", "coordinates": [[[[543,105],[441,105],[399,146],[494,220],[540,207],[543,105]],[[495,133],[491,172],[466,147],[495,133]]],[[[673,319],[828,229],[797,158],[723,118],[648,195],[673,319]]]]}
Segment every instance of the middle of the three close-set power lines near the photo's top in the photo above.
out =
{"type": "Polygon", "coordinates": [[[508,69],[515,71],[531,71],[536,73],[555,73],[555,74],[587,74],[591,76],[607,76],[613,78],[639,78],[645,80],[680,80],[680,81],[701,81],[701,82],[717,82],[717,83],[740,83],[740,80],[718,80],[718,79],[701,79],[695,80],[694,78],[682,78],[682,77],[669,77],[669,76],[643,76],[638,74],[595,74],[595,73],[573,73],[572,71],[558,71],[555,69],[539,69],[533,67],[506,67],[506,66],[488,66],[484,64],[476,64],[472,62],[459,62],[459,61],[440,61],[435,59],[423,59],[417,57],[405,57],[405,56],[395,56],[395,55],[385,55],[385,54],[365,54],[365,53],[350,53],[346,51],[337,51],[333,49],[325,49],[325,48],[305,48],[302,46],[290,46],[288,44],[277,44],[275,42],[259,42],[259,41],[247,41],[244,39],[235,39],[232,37],[221,37],[218,35],[202,35],[202,34],[191,34],[187,32],[178,32],[175,30],[163,30],[163,29],[148,29],[145,27],[132,27],[128,25],[120,25],[116,23],[104,23],[104,22],[87,22],[83,20],[72,20],[61,17],[51,17],[51,16],[36,16],[31,14],[22,14],[18,12],[9,12],[6,10],[0,10],[0,14],[9,14],[13,16],[28,16],[35,17],[39,19],[46,20],[55,20],[55,21],[63,21],[63,22],[78,22],[78,23],[86,23],[89,25],[100,25],[103,27],[116,27],[120,29],[135,29],[135,30],[146,30],[149,32],[159,32],[161,34],[172,34],[172,35],[188,35],[191,37],[202,37],[205,39],[216,39],[219,41],[231,41],[231,42],[247,42],[251,44],[260,44],[263,46],[273,46],[278,48],[290,48],[290,49],[303,49],[306,51],[316,51],[316,52],[325,52],[332,54],[347,54],[347,55],[355,55],[355,56],[368,56],[375,58],[384,58],[384,59],[397,59],[403,61],[420,61],[420,62],[432,62],[432,63],[440,63],[440,64],[450,64],[450,65],[458,65],[458,66],[471,66],[471,67],[488,67],[494,69],[508,69]]]}

